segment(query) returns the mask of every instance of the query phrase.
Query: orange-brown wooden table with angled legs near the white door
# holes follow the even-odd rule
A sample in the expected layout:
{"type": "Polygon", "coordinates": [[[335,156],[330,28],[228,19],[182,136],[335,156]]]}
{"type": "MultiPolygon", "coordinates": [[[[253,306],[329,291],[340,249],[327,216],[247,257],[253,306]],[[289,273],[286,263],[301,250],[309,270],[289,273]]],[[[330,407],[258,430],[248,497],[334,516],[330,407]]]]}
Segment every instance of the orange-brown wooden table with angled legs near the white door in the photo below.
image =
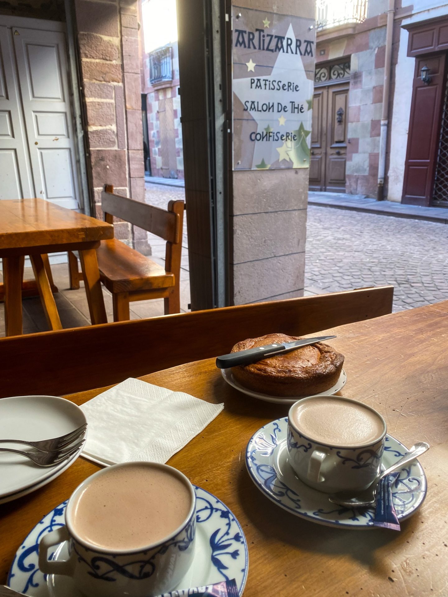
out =
{"type": "Polygon", "coordinates": [[[113,238],[113,226],[44,199],[0,201],[0,257],[3,260],[7,336],[22,334],[22,279],[29,255],[36,287],[51,330],[62,325],[51,292],[48,253],[79,251],[92,324],[107,323],[95,249],[113,238]]]}

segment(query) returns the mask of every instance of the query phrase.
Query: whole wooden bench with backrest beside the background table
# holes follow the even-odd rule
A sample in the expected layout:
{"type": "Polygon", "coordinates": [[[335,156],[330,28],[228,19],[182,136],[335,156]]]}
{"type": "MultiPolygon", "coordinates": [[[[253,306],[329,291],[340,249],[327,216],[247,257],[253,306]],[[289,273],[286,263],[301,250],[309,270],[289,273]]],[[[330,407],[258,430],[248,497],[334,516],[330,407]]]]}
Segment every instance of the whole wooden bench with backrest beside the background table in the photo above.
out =
{"type": "MultiPolygon", "coordinates": [[[[180,256],[182,253],[183,201],[170,201],[168,210],[113,193],[106,184],[101,207],[105,221],[119,218],[167,241],[165,267],[151,261],[118,239],[102,241],[97,248],[101,281],[112,293],[113,321],[130,319],[129,302],[164,298],[165,315],[180,312],[180,256]]],[[[70,288],[79,288],[81,275],[75,254],[69,253],[70,288]]]]}

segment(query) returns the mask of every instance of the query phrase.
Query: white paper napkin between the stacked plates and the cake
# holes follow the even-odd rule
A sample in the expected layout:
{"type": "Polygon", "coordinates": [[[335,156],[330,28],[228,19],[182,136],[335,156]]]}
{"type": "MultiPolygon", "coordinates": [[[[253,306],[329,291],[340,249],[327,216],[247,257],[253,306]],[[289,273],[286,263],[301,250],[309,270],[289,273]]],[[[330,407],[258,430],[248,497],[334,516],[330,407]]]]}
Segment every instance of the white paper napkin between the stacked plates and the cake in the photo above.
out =
{"type": "Polygon", "coordinates": [[[224,408],[183,392],[128,378],[85,402],[82,456],[101,464],[165,463],[224,408]]]}

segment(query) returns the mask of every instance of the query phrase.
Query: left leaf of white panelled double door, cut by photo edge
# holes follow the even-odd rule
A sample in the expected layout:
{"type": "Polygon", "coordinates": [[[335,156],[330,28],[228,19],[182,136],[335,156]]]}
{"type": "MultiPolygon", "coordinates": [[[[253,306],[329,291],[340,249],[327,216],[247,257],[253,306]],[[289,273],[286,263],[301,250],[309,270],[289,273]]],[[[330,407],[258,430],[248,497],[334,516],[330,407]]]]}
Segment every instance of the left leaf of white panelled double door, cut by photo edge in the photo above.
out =
{"type": "Polygon", "coordinates": [[[0,199],[34,196],[11,29],[0,27],[0,199]]]}

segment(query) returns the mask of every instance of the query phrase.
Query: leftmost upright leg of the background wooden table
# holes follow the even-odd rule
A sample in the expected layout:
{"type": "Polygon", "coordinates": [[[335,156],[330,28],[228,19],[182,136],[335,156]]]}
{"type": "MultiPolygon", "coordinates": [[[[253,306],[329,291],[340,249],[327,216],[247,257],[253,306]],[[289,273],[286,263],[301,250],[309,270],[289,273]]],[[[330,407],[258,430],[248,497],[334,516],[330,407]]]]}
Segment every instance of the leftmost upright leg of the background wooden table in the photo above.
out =
{"type": "Polygon", "coordinates": [[[24,256],[3,258],[5,290],[5,332],[7,336],[22,334],[22,279],[24,256]]]}

